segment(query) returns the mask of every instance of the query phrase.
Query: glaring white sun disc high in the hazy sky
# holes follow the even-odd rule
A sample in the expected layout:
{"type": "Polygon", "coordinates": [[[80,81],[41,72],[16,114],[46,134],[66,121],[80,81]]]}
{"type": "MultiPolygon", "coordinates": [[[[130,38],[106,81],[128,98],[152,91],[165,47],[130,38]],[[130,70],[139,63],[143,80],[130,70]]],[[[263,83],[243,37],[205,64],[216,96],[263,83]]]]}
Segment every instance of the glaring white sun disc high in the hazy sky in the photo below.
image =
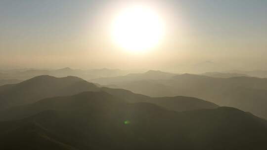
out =
{"type": "Polygon", "coordinates": [[[112,24],[112,38],[120,47],[142,52],[155,47],[164,35],[164,22],[152,9],[135,5],[124,8],[112,24]]]}

